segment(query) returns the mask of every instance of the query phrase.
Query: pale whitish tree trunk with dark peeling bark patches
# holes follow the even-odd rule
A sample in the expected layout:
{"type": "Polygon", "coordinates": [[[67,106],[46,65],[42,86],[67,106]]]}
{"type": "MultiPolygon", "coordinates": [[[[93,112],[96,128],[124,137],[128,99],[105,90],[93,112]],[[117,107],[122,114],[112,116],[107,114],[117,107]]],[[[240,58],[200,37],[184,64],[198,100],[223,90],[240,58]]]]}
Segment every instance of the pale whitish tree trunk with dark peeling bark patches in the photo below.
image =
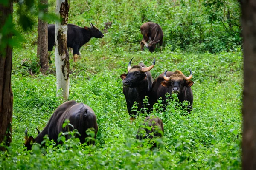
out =
{"type": "Polygon", "coordinates": [[[62,96],[67,100],[69,96],[69,56],[67,51],[67,20],[69,5],[67,0],[56,1],[56,14],[61,22],[56,21],[55,27],[55,65],[58,91],[62,89],[62,96]]]}

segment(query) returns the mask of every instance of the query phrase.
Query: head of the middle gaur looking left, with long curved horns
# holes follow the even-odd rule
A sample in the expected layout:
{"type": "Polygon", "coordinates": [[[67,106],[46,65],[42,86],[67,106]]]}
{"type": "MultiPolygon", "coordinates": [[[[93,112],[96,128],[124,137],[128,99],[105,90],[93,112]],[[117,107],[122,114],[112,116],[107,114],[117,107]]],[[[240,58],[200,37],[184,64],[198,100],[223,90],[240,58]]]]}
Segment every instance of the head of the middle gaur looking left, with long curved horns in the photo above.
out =
{"type": "Polygon", "coordinates": [[[142,67],[140,65],[134,65],[133,67],[131,67],[132,59],[130,60],[127,67],[128,73],[121,74],[120,76],[123,80],[123,85],[130,88],[137,87],[138,85],[140,85],[141,82],[146,81],[147,74],[145,72],[150,71],[154,67],[156,62],[154,58],[153,64],[149,67],[142,67]]]}

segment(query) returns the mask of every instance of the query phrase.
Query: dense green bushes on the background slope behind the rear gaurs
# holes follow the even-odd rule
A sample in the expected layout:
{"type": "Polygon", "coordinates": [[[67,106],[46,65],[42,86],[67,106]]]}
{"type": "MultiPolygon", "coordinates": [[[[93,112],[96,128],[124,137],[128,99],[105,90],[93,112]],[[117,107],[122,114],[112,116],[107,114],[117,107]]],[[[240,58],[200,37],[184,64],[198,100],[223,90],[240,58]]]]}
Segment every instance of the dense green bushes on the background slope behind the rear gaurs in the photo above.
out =
{"type": "Polygon", "coordinates": [[[114,45],[130,45],[138,50],[142,23],[159,23],[164,33],[164,46],[170,50],[236,51],[241,45],[240,7],[237,0],[120,0],[87,1],[87,6],[72,2],[70,21],[81,26],[112,21],[105,41],[114,45]],[[107,3],[106,3],[107,2],[107,3]]]}

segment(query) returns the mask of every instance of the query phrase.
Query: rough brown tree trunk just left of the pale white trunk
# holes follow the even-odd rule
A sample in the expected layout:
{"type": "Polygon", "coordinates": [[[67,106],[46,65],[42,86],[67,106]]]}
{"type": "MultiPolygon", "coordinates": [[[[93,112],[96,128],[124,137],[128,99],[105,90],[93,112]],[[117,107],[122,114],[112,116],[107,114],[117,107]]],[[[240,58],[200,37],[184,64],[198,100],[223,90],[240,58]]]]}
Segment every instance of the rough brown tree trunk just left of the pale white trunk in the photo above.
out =
{"type": "MultiPolygon", "coordinates": [[[[40,0],[39,2],[40,12],[46,14],[48,12],[48,0],[40,0]]],[[[40,71],[45,72],[49,69],[48,65],[48,24],[47,22],[38,18],[38,49],[37,57],[39,57],[39,65],[41,67],[40,71]]]]}

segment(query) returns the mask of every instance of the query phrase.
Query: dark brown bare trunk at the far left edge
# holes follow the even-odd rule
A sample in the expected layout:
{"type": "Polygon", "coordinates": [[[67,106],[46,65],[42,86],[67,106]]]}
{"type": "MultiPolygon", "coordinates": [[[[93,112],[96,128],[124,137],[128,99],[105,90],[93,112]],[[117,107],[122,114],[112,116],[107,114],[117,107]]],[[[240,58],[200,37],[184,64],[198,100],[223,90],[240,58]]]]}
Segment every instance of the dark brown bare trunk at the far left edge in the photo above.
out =
{"type": "MultiPolygon", "coordinates": [[[[0,30],[8,22],[12,23],[13,4],[9,1],[7,6],[0,4],[0,30]]],[[[12,26],[12,24],[9,24],[12,26]]],[[[11,30],[12,28],[8,28],[11,30]]],[[[12,34],[3,35],[2,40],[12,39],[12,34]]],[[[1,39],[0,39],[1,40],[1,39]]],[[[11,88],[12,74],[12,47],[6,46],[0,53],[0,143],[9,146],[12,142],[12,104],[13,95],[11,88]]],[[[0,150],[5,150],[5,147],[0,147],[0,150]]]]}

